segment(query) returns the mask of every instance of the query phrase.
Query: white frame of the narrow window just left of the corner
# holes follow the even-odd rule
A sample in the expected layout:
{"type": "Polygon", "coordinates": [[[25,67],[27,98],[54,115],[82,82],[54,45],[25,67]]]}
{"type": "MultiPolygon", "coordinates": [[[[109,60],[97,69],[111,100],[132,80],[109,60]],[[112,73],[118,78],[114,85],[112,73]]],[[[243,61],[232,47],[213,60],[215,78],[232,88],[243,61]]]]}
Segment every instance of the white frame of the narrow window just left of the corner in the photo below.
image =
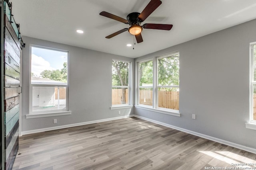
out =
{"type": "MultiPolygon", "coordinates": [[[[120,61],[120,62],[124,62],[124,63],[128,63],[128,86],[113,86],[111,87],[111,96],[112,96],[112,89],[113,88],[127,88],[128,89],[128,103],[127,104],[116,104],[116,105],[112,105],[112,98],[111,98],[111,107],[110,110],[114,110],[114,109],[126,109],[126,108],[132,108],[133,106],[130,105],[131,104],[131,62],[130,61],[124,61],[124,60],[118,60],[118,59],[112,59],[113,61],[120,61]]],[[[112,68],[112,67],[111,67],[112,68]]]]}

